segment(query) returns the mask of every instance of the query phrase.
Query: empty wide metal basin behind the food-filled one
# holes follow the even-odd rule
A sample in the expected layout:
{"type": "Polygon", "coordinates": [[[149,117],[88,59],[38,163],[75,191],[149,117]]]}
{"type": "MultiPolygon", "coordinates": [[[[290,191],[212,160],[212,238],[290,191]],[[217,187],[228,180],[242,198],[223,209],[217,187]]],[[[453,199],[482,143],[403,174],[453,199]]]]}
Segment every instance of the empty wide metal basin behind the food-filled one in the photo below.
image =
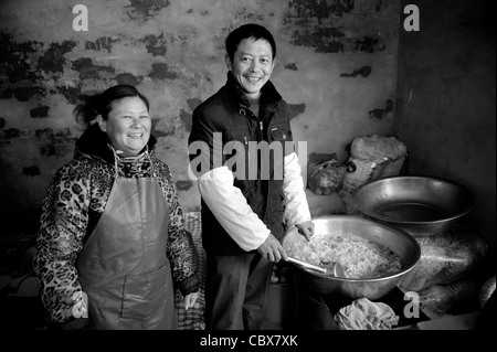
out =
{"type": "Polygon", "coordinates": [[[360,185],[355,204],[367,217],[406,231],[413,236],[443,233],[474,204],[464,186],[438,178],[391,177],[360,185]]]}

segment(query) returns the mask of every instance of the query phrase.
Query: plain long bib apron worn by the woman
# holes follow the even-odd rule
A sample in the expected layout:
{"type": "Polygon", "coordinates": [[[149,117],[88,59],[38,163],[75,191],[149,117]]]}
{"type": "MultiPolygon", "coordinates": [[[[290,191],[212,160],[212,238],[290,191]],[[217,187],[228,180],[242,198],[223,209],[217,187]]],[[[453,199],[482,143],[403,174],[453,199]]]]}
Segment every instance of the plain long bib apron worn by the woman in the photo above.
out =
{"type": "Polygon", "coordinates": [[[117,178],[115,168],[105,211],[77,259],[91,328],[178,329],[168,204],[155,178],[117,178]]]}

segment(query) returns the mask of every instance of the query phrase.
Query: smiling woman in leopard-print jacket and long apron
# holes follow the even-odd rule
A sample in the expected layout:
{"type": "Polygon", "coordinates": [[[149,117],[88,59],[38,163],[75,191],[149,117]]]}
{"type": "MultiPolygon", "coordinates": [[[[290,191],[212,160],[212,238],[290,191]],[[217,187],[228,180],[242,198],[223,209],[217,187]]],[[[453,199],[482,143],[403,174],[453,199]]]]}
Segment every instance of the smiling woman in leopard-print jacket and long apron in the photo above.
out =
{"type": "Polygon", "coordinates": [[[49,322],[176,329],[173,287],[188,309],[199,282],[171,172],[154,152],[148,100],[128,85],[83,98],[74,111],[87,129],[49,186],[36,238],[49,322]]]}

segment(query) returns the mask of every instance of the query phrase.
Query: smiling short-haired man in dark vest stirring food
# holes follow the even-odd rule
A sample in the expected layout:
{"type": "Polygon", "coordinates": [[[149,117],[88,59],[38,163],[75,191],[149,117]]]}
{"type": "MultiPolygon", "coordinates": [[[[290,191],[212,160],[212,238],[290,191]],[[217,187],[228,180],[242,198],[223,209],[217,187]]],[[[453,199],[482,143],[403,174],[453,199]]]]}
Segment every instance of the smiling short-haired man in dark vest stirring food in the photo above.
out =
{"type": "Polygon", "coordinates": [[[225,44],[226,84],[194,109],[189,138],[191,171],[200,177],[205,326],[258,330],[272,262],[288,259],[279,239],[293,226],[309,239],[314,224],[288,106],[269,82],[276,63],[273,35],[245,24],[225,44]],[[228,146],[236,153],[225,154],[228,146]]]}

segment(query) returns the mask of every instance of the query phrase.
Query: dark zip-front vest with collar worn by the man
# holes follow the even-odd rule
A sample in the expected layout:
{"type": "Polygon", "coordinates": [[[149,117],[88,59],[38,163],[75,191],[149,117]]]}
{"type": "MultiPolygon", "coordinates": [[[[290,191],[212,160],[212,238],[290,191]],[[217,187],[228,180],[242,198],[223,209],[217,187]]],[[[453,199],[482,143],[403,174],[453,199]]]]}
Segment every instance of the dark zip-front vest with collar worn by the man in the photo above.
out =
{"type": "MultiPolygon", "coordinates": [[[[234,172],[234,186],[239,188],[255,214],[267,225],[272,234],[284,235],[283,194],[284,157],[293,149],[288,106],[267,82],[262,89],[258,118],[250,110],[248,102],[240,92],[229,73],[226,85],[193,111],[192,131],[189,142],[199,140],[205,117],[222,137],[222,146],[236,141],[243,148],[245,170],[240,170],[240,153],[223,153],[222,164],[234,172]],[[242,147],[243,146],[243,147],[242,147]],[[268,147],[257,150],[257,146],[268,147]],[[271,150],[278,149],[274,152],[271,150]],[[254,152],[255,151],[255,152],[254,152]],[[239,159],[235,158],[239,157],[239,159]]],[[[210,131],[212,132],[212,131],[210,131]]],[[[209,141],[212,143],[212,141],[209,141]]],[[[190,159],[197,156],[191,154],[190,159]]],[[[211,154],[211,161],[213,156],[211,154]]],[[[202,205],[202,241],[205,250],[215,255],[236,255],[245,250],[231,238],[207,204],[202,205]]]]}

